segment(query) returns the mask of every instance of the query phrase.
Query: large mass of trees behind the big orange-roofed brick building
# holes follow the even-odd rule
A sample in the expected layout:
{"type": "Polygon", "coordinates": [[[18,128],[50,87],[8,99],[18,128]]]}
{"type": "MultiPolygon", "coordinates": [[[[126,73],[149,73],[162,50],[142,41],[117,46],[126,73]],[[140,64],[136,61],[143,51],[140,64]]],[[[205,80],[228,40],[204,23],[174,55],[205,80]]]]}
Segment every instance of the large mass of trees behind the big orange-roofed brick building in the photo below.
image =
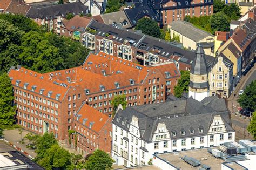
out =
{"type": "Polygon", "coordinates": [[[41,73],[68,69],[81,65],[90,51],[68,37],[45,33],[24,16],[0,18],[0,73],[18,64],[41,73]]]}

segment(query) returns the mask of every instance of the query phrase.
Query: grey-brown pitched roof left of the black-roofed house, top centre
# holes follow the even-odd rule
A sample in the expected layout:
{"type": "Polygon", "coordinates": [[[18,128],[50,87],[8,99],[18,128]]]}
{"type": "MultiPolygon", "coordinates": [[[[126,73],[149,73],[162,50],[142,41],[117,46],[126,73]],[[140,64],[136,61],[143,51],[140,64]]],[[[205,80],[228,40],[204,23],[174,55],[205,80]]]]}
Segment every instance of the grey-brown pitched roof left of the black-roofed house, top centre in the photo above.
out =
{"type": "Polygon", "coordinates": [[[106,13],[101,15],[103,21],[107,25],[112,25],[113,23],[116,24],[123,24],[124,22],[127,22],[127,25],[123,26],[123,28],[131,28],[132,25],[129,21],[129,19],[126,17],[124,11],[118,11],[118,12],[112,12],[112,13],[106,13]]]}

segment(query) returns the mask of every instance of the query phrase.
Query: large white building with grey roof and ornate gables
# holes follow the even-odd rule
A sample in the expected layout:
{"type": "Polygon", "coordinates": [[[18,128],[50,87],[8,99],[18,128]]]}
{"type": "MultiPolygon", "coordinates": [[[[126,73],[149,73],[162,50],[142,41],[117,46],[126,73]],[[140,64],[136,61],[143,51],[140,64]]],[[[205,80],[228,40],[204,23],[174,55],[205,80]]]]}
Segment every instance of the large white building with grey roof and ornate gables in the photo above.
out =
{"type": "Polygon", "coordinates": [[[120,109],[112,121],[112,158],[131,167],[147,164],[153,154],[234,141],[228,114],[224,99],[216,96],[120,109]]]}

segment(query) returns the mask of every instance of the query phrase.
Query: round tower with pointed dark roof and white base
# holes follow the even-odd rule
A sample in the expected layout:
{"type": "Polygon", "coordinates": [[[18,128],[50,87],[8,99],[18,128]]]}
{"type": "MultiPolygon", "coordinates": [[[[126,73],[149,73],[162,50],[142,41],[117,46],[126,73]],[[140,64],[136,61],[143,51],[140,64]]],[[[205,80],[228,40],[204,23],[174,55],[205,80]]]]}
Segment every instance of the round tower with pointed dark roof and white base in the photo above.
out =
{"type": "Polygon", "coordinates": [[[190,69],[190,85],[188,96],[201,101],[209,94],[208,66],[205,60],[205,52],[199,44],[190,69]]]}

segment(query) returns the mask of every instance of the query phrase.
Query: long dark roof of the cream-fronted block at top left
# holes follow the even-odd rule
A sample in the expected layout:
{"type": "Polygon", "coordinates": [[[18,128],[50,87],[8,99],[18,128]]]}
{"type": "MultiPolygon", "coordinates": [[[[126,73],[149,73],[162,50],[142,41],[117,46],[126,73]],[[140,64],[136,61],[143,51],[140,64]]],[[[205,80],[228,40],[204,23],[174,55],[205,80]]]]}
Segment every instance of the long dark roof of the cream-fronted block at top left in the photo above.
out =
{"type": "Polygon", "coordinates": [[[88,6],[84,6],[81,2],[73,2],[66,4],[50,5],[46,7],[31,6],[26,17],[39,19],[55,19],[57,16],[66,17],[68,13],[79,15],[79,13],[86,13],[88,6]]]}

